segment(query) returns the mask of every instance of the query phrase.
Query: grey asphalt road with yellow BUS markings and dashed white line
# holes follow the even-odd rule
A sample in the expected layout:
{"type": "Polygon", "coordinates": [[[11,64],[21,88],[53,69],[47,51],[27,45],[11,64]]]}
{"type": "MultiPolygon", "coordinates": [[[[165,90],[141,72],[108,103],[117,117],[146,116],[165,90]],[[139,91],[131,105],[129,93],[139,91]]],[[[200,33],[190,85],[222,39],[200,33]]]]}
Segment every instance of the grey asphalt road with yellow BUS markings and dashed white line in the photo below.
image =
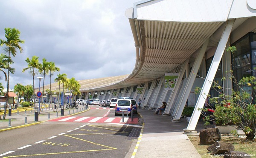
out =
{"type": "MultiPolygon", "coordinates": [[[[91,109],[76,115],[114,116],[114,110],[91,109]]],[[[106,123],[46,121],[0,133],[4,158],[124,158],[134,142],[132,126],[106,123]]],[[[135,137],[136,138],[136,137],[135,137]]],[[[135,140],[137,141],[137,140],[135,140]]]]}

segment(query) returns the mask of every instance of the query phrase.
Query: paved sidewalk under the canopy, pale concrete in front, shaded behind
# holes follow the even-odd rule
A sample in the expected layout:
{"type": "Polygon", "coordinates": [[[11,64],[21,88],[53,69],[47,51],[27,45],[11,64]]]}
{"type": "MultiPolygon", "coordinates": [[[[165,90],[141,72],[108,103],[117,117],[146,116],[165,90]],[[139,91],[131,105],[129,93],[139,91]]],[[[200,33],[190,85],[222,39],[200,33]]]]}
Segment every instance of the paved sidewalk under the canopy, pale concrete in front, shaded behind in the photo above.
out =
{"type": "MultiPolygon", "coordinates": [[[[173,123],[170,116],[154,115],[151,110],[139,109],[138,112],[144,124],[132,158],[201,158],[187,135],[183,134],[189,123],[186,118],[173,123]]],[[[195,130],[199,132],[204,128],[204,122],[199,121],[195,130]]]]}

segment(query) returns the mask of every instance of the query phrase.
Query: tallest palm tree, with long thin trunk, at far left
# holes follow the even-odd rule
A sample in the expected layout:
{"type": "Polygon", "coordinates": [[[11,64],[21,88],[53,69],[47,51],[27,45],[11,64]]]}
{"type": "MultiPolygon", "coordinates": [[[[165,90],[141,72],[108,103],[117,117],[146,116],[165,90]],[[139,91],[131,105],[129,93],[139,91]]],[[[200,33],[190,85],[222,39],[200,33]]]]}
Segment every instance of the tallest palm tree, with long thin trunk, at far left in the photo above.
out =
{"type": "MultiPolygon", "coordinates": [[[[22,48],[20,46],[20,43],[24,43],[24,40],[20,40],[20,31],[17,28],[5,28],[5,37],[6,40],[0,39],[0,45],[5,45],[5,51],[8,53],[8,58],[11,59],[11,54],[13,57],[16,56],[17,50],[20,50],[20,53],[22,53],[22,48]]],[[[10,67],[11,61],[9,61],[8,66],[10,67]]],[[[10,81],[10,71],[8,69],[7,72],[7,89],[6,89],[6,106],[5,106],[5,112],[3,114],[3,119],[5,119],[6,116],[6,109],[8,105],[9,100],[9,81],[10,81]]]]}

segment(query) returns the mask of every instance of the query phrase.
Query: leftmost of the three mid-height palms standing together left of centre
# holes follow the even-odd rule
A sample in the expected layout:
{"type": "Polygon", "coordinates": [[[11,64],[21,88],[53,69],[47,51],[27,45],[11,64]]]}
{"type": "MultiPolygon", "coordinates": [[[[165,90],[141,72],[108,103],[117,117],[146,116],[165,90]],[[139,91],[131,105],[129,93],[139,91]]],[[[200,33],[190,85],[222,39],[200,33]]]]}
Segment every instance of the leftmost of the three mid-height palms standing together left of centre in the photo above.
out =
{"type": "Polygon", "coordinates": [[[35,68],[38,69],[41,67],[41,64],[39,63],[38,56],[32,56],[31,59],[27,58],[25,60],[28,63],[27,68],[23,68],[22,72],[25,72],[26,70],[30,70],[30,73],[33,76],[33,97],[34,97],[34,103],[35,103],[35,68]]]}

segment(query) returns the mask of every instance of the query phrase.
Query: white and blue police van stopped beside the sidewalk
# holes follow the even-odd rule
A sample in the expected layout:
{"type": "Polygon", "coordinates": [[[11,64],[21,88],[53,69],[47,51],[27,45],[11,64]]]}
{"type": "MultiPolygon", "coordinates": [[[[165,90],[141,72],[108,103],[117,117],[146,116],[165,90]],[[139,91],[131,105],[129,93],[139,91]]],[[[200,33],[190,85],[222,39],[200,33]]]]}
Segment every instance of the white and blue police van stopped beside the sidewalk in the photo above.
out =
{"type": "Polygon", "coordinates": [[[131,99],[117,99],[115,116],[121,113],[127,113],[131,116],[131,109],[133,108],[133,104],[131,99]]]}

